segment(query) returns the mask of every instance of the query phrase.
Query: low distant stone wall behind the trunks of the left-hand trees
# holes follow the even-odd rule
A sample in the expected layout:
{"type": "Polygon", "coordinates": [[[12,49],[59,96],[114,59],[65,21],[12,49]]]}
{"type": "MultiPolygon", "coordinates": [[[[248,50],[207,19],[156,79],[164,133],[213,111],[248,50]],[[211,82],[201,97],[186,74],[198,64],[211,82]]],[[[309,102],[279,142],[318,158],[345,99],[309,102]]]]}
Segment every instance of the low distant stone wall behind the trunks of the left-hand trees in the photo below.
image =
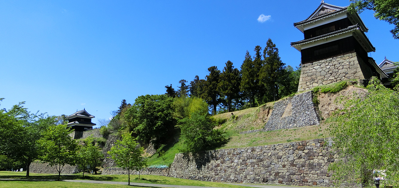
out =
{"type": "MultiPolygon", "coordinates": [[[[32,173],[58,174],[55,166],[50,166],[48,162],[32,162],[29,166],[29,171],[32,173]]],[[[74,174],[77,172],[79,172],[77,166],[71,166],[69,164],[66,164],[61,170],[61,174],[74,174]]]]}

